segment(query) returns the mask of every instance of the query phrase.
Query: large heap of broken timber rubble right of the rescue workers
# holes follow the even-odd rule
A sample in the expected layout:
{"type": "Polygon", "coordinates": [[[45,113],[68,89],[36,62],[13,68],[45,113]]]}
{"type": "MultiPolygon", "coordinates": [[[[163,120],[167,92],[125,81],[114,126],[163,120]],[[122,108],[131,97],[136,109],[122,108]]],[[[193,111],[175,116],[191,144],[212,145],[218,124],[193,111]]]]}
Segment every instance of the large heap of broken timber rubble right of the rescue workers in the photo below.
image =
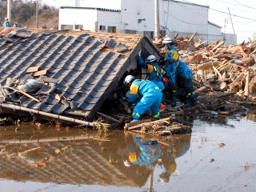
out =
{"type": "MultiPolygon", "coordinates": [[[[241,110],[240,104],[256,104],[256,42],[226,46],[224,41],[194,42],[174,36],[180,59],[194,74],[194,93],[202,110],[230,114],[241,110]],[[238,105],[239,104],[239,105],[238,105]]],[[[154,42],[164,55],[162,39],[154,42]]]]}

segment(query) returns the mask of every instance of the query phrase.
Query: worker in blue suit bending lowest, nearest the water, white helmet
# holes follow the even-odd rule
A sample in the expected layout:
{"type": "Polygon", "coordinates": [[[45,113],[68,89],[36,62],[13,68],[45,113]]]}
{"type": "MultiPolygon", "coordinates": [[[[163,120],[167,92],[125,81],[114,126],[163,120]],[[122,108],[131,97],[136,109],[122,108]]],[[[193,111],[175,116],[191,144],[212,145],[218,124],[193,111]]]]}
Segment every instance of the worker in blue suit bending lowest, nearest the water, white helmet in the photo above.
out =
{"type": "Polygon", "coordinates": [[[134,76],[128,75],[124,81],[126,86],[130,86],[130,94],[128,105],[131,106],[140,98],[137,105],[134,107],[133,120],[137,122],[141,115],[150,109],[152,116],[156,119],[160,118],[159,107],[162,102],[162,91],[154,82],[148,80],[138,80],[134,76]]]}

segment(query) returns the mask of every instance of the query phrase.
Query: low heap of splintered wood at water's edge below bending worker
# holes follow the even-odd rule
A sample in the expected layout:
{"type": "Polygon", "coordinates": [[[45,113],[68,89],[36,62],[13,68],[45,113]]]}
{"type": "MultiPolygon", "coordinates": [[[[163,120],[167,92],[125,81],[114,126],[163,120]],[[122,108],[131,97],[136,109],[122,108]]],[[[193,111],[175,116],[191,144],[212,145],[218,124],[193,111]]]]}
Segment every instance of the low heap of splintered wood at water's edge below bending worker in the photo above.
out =
{"type": "Polygon", "coordinates": [[[154,134],[158,136],[170,134],[182,134],[190,128],[182,123],[173,122],[174,118],[163,118],[154,122],[149,119],[134,123],[126,123],[125,130],[130,130],[141,134],[154,134]]]}

